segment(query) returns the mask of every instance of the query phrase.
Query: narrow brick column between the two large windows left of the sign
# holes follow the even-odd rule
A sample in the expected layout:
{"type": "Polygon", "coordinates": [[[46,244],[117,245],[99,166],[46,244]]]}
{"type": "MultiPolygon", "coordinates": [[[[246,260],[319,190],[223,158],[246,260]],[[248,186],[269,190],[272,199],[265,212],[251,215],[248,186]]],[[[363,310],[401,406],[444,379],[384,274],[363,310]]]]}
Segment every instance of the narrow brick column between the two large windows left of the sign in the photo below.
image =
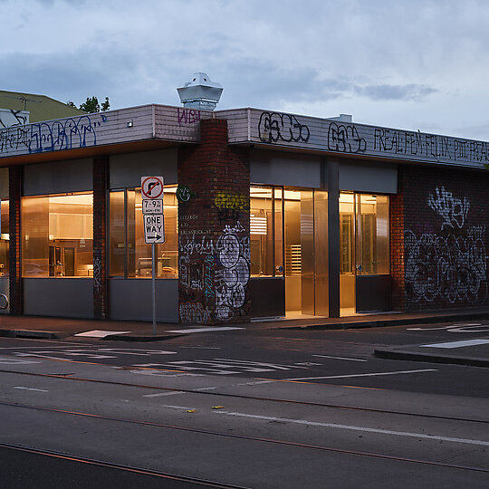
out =
{"type": "Polygon", "coordinates": [[[93,317],[109,317],[107,282],[107,189],[109,157],[93,158],[93,317]]]}

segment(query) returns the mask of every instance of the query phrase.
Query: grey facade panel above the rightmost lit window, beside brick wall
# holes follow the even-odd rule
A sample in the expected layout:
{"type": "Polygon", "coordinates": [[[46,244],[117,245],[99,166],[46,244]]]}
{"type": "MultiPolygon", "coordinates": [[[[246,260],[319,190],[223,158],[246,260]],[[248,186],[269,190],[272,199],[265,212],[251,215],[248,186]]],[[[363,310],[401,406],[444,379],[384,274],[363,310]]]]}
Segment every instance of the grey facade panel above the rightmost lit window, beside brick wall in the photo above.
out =
{"type": "Polygon", "coordinates": [[[340,190],[398,193],[398,167],[381,163],[340,163],[340,190]]]}

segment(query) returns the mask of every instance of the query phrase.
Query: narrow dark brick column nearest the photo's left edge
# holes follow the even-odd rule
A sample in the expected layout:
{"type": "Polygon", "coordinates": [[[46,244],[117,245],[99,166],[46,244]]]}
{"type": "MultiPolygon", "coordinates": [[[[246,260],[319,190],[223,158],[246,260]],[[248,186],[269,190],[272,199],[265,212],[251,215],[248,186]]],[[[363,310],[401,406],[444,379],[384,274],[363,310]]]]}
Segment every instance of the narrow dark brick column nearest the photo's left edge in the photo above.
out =
{"type": "Polygon", "coordinates": [[[21,262],[21,194],[23,168],[21,166],[8,168],[8,198],[9,198],[9,303],[11,314],[24,312],[24,294],[22,288],[21,262]]]}

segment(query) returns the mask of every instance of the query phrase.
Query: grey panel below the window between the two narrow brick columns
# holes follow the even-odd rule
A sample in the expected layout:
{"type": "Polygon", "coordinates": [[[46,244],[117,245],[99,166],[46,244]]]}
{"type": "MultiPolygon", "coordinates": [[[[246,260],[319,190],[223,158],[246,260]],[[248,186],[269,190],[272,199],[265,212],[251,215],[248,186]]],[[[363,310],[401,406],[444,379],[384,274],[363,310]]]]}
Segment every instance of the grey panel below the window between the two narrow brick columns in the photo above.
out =
{"type": "Polygon", "coordinates": [[[23,279],[24,314],[93,318],[93,280],[23,279]]]}

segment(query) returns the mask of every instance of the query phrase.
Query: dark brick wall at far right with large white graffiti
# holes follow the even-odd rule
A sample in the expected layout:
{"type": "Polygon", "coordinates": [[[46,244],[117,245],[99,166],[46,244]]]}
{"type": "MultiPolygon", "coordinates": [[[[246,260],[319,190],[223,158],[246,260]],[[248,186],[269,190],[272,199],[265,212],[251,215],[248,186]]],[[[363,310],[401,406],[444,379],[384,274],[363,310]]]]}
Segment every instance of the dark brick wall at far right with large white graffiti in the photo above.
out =
{"type": "Polygon", "coordinates": [[[489,172],[404,166],[399,183],[391,199],[394,302],[402,305],[404,288],[408,311],[486,305],[489,172]]]}

